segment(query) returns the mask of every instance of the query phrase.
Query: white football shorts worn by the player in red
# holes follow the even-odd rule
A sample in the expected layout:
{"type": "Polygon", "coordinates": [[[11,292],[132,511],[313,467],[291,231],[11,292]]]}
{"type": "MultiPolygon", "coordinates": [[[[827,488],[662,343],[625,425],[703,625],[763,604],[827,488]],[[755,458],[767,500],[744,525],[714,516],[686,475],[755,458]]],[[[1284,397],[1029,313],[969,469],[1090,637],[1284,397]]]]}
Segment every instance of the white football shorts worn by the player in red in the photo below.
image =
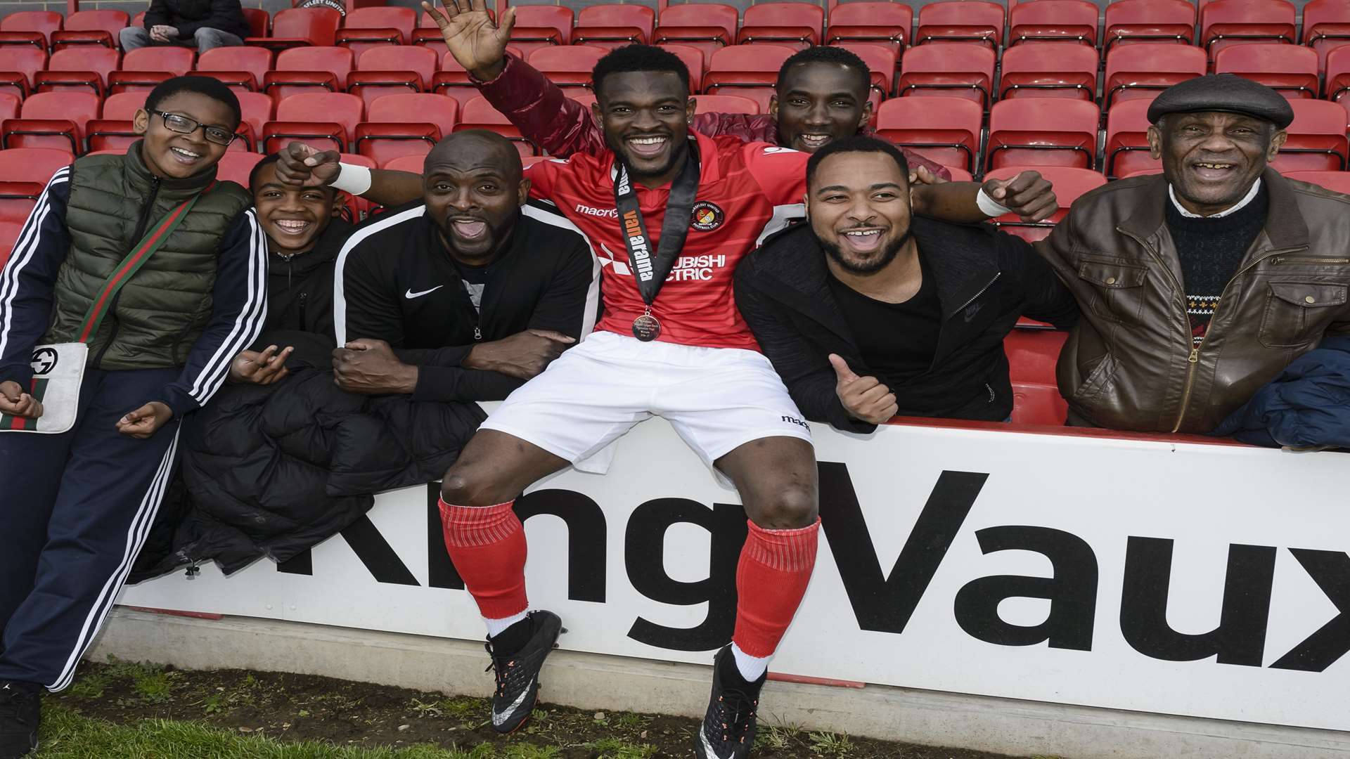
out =
{"type": "Polygon", "coordinates": [[[811,442],[810,427],[763,354],[644,343],[608,331],[564,351],[479,428],[605,474],[614,442],[652,416],[670,421],[709,466],[760,438],[811,442]]]}

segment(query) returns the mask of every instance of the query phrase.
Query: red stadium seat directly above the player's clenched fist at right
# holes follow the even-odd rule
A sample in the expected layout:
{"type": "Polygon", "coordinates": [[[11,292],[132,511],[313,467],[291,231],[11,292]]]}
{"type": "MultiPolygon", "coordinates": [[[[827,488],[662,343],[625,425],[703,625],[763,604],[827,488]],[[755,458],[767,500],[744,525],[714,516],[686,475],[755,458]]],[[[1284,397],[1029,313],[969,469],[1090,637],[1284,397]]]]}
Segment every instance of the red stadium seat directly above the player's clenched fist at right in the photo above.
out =
{"type": "Polygon", "coordinates": [[[990,108],[986,167],[1091,169],[1099,116],[1096,104],[1081,100],[1025,97],[995,103],[990,108]]]}

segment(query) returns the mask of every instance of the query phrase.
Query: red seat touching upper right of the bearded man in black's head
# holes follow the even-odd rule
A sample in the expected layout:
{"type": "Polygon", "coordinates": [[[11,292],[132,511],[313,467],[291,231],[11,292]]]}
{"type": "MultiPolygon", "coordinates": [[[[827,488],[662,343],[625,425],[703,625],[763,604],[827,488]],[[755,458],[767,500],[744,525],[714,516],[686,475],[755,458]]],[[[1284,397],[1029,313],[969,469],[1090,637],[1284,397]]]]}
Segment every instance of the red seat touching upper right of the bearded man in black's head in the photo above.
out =
{"type": "Polygon", "coordinates": [[[876,134],[944,166],[975,170],[984,109],[961,97],[895,97],[882,104],[876,134]]]}

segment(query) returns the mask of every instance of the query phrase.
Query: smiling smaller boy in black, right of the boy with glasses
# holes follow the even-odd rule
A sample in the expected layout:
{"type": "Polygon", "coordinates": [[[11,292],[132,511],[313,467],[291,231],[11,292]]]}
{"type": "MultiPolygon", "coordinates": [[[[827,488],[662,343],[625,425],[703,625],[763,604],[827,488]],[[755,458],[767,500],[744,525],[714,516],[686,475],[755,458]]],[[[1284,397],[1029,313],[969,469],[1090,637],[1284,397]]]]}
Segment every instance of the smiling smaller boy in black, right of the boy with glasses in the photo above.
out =
{"type": "MultiPolygon", "coordinates": [[[[248,174],[258,223],[267,232],[267,321],[263,332],[298,330],[333,336],[333,267],[352,226],[336,217],[338,190],[286,185],[277,180],[277,158],[259,161],[248,174]]],[[[258,346],[252,346],[258,347],[258,346]]],[[[286,375],[292,347],[246,350],[230,366],[232,382],[270,385],[286,375]]]]}

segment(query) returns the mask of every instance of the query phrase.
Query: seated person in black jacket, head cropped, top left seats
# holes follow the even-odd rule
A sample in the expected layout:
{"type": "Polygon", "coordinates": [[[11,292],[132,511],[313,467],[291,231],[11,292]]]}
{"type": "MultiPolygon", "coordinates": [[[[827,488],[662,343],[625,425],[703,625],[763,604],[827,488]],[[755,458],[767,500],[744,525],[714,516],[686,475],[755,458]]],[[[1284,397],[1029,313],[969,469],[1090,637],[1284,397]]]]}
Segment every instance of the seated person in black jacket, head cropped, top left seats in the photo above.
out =
{"type": "Polygon", "coordinates": [[[146,26],[122,30],[122,49],[176,45],[205,53],[243,45],[246,36],[248,20],[239,0],[150,0],[146,26]]]}

